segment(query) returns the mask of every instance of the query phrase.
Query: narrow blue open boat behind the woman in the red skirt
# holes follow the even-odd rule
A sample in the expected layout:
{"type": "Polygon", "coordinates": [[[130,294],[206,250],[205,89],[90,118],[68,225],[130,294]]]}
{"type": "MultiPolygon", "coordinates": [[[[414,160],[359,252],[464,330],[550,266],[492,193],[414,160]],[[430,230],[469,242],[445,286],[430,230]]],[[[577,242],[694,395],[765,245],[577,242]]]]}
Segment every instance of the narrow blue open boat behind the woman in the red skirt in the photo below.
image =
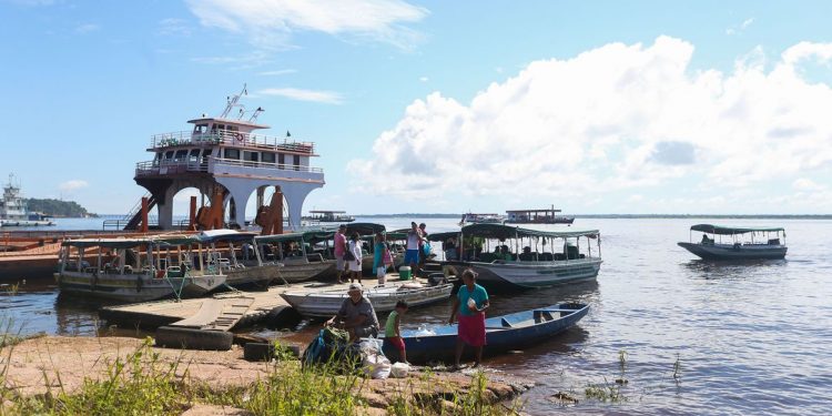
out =
{"type": "MultiPolygon", "coordinates": [[[[548,341],[570,328],[589,312],[589,305],[561,303],[549,307],[517,312],[486,318],[486,346],[484,355],[519,349],[548,341]]],[[[410,363],[453,362],[456,348],[457,325],[443,325],[425,331],[403,329],[407,361],[410,363]]],[[[471,348],[467,347],[466,353],[471,348]]],[[[384,343],[384,353],[398,357],[398,352],[384,343]]]]}

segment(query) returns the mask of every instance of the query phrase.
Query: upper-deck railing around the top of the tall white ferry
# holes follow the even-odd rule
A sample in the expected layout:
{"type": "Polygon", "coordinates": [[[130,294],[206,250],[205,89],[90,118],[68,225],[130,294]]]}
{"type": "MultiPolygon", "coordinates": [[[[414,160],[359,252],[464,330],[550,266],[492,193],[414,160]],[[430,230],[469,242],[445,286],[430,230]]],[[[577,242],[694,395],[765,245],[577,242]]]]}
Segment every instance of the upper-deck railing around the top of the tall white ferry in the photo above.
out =
{"type": "Polygon", "coordinates": [[[283,150],[287,152],[314,154],[315,143],[298,142],[288,138],[277,138],[265,134],[216,131],[210,133],[194,133],[191,131],[177,131],[171,133],[153,134],[150,138],[151,149],[168,148],[174,145],[212,145],[226,144],[264,150],[283,150]]]}

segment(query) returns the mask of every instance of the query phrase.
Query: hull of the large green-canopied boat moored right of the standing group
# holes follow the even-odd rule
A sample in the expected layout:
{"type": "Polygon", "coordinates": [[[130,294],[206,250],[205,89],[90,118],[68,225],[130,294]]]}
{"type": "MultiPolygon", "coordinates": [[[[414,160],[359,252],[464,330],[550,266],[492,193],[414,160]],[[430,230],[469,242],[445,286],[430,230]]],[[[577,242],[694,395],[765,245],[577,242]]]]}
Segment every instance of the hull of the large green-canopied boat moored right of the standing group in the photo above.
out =
{"type": "Polygon", "coordinates": [[[548,287],[565,283],[591,281],[601,268],[600,258],[576,258],[551,262],[442,262],[446,276],[459,276],[470,267],[478,273],[477,283],[521,288],[548,287]]]}

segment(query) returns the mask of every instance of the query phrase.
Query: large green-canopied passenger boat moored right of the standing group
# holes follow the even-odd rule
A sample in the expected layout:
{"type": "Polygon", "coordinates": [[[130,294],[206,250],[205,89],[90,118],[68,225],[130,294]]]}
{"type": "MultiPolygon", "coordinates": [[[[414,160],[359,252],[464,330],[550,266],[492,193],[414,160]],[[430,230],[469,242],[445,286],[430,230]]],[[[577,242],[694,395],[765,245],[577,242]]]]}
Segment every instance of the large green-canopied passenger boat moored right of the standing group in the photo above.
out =
{"type": "Polygon", "coordinates": [[[440,242],[449,237],[459,242],[456,257],[461,260],[440,261],[445,275],[459,276],[464,270],[473,268],[479,274],[477,283],[486,286],[532,288],[590,281],[598,276],[602,263],[598,230],[552,232],[473,224],[459,232],[429,235],[432,241],[440,242]],[[471,245],[470,237],[485,245],[471,245]]]}

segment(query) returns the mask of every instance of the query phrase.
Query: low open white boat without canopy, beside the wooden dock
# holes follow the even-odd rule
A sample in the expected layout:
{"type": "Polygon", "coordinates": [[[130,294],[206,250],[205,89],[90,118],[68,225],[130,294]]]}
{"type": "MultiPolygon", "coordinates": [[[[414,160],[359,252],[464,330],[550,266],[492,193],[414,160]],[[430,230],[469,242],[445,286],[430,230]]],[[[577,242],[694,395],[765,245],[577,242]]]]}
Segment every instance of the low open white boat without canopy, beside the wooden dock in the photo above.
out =
{"type": "MultiPolygon", "coordinates": [[[[376,314],[393,311],[398,301],[406,301],[409,307],[426,305],[450,296],[454,285],[450,283],[425,286],[422,283],[388,283],[364,290],[364,296],[373,304],[376,314]]],[[[288,291],[281,294],[301,315],[310,317],[331,317],[335,315],[344,300],[346,288],[324,290],[317,292],[288,291]]]]}

